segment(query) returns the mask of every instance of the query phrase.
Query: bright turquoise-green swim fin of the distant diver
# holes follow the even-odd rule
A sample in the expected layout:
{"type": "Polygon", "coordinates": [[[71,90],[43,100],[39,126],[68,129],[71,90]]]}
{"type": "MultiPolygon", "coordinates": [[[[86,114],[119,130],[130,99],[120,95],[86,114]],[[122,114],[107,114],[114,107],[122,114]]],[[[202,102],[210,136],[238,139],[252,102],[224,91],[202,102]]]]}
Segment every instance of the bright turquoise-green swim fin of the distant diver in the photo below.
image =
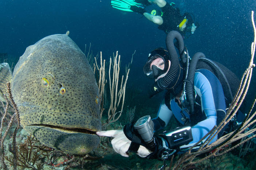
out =
{"type": "Polygon", "coordinates": [[[137,10],[133,9],[143,8],[143,4],[137,3],[135,0],[112,0],[111,5],[113,8],[128,12],[137,12],[137,10]]]}

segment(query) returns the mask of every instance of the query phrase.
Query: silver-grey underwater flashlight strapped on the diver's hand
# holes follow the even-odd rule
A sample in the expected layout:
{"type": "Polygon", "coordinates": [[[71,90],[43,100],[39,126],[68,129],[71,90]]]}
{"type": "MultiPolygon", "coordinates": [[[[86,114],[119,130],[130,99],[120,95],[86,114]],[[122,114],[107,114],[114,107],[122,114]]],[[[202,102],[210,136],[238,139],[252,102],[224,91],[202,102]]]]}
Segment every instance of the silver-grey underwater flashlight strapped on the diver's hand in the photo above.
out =
{"type": "Polygon", "coordinates": [[[151,117],[149,115],[143,116],[139,118],[133,126],[138,131],[141,138],[146,142],[150,150],[153,150],[155,148],[155,141],[153,138],[154,123],[151,120],[151,117]]]}

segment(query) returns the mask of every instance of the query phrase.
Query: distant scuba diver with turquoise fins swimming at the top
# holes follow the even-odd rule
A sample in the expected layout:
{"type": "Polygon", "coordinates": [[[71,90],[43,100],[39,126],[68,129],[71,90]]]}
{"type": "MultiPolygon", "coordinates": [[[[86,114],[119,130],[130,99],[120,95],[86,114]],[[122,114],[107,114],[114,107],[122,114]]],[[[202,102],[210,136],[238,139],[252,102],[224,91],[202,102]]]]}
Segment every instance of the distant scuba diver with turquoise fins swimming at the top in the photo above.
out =
{"type": "Polygon", "coordinates": [[[165,0],[112,0],[113,8],[121,11],[137,12],[144,15],[148,20],[159,25],[158,29],[166,34],[175,30],[183,36],[191,35],[197,28],[189,13],[181,15],[179,8],[175,8],[175,3],[168,4],[165,0]],[[160,10],[153,9],[151,13],[146,12],[146,7],[151,3],[157,4],[160,10]]]}

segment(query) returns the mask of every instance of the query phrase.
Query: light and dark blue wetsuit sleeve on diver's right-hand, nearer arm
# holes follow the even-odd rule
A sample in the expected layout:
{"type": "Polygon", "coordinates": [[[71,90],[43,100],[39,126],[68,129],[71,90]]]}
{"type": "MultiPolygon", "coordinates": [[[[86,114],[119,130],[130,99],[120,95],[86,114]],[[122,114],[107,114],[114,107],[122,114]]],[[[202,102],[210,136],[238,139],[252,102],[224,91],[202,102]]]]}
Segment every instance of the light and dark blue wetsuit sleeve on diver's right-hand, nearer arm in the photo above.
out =
{"type": "MultiPolygon", "coordinates": [[[[194,77],[194,89],[201,97],[202,112],[206,119],[198,122],[192,127],[193,141],[180,148],[186,149],[193,146],[204,135],[206,135],[214,125],[217,125],[217,116],[225,114],[225,98],[222,86],[218,78],[209,70],[199,69],[194,77]]],[[[217,136],[210,142],[216,141],[217,136]]]]}

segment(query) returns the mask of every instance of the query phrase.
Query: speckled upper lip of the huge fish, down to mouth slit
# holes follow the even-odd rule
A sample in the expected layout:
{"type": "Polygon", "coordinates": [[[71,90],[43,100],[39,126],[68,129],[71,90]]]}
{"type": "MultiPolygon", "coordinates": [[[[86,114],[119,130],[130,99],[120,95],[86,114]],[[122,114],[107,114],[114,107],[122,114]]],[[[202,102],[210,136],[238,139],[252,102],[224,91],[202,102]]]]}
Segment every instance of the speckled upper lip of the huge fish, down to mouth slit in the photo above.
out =
{"type": "Polygon", "coordinates": [[[65,133],[96,134],[101,130],[101,121],[97,116],[85,113],[53,112],[40,106],[21,106],[19,110],[26,110],[20,115],[20,124],[30,127],[50,128],[65,133]],[[39,109],[44,109],[39,112],[39,109]]]}

